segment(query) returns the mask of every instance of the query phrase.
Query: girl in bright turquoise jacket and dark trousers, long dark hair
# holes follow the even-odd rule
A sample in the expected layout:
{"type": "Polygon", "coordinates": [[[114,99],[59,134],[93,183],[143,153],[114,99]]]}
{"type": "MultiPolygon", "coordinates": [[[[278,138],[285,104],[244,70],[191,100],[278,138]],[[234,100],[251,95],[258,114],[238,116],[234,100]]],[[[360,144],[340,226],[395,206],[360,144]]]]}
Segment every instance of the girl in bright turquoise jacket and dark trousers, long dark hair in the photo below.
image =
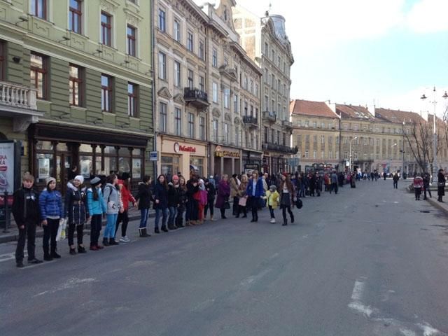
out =
{"type": "Polygon", "coordinates": [[[103,248],[98,244],[102,228],[102,217],[106,214],[106,202],[103,199],[101,179],[96,176],[90,180],[91,188],[87,189],[87,206],[90,214],[90,250],[97,251],[103,248]]]}

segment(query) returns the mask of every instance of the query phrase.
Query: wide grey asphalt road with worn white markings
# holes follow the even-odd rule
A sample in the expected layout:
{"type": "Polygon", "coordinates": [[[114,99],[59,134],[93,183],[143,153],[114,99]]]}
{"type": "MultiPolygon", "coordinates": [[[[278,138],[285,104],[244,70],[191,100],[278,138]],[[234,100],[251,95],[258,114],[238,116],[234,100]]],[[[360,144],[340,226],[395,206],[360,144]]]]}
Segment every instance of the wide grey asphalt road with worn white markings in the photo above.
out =
{"type": "Polygon", "coordinates": [[[2,244],[0,335],[448,335],[447,218],[403,189],[307,197],[287,227],[264,210],[85,255],[64,242],[24,269],[2,244]]]}

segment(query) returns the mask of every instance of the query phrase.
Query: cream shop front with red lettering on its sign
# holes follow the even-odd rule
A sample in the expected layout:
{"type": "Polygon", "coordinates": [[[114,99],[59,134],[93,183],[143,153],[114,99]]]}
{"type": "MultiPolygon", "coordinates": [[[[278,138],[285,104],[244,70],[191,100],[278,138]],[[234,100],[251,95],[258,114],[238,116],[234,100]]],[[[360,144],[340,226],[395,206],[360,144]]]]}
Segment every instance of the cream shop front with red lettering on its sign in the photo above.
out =
{"type": "Polygon", "coordinates": [[[188,180],[190,174],[202,177],[207,173],[207,145],[195,141],[187,144],[166,136],[158,137],[158,145],[158,174],[165,174],[170,179],[180,172],[188,180]]]}

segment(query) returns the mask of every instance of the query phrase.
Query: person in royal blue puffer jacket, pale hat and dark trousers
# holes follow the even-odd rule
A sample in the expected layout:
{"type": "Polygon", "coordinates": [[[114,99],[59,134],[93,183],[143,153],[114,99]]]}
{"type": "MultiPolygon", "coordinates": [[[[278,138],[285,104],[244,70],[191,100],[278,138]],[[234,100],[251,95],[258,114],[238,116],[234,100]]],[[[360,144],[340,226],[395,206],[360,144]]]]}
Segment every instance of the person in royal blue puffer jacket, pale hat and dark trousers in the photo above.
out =
{"type": "Polygon", "coordinates": [[[39,195],[39,207],[43,226],[43,260],[51,261],[53,258],[61,258],[57,250],[57,230],[59,221],[64,221],[64,207],[62,207],[62,195],[56,190],[56,179],[49,177],[47,187],[39,195]],[[50,241],[50,244],[48,244],[50,241]],[[51,249],[49,249],[51,247],[51,249]]]}

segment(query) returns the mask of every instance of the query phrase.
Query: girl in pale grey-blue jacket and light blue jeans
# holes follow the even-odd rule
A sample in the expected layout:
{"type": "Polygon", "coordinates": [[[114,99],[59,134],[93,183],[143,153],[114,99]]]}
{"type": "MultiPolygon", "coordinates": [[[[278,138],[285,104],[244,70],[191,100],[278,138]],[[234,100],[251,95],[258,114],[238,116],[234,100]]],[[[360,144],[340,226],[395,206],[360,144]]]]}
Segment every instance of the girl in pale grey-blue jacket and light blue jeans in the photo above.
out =
{"type": "Polygon", "coordinates": [[[104,229],[103,245],[118,245],[115,240],[115,225],[118,214],[123,211],[121,204],[120,191],[117,188],[116,174],[110,174],[106,178],[106,187],[104,187],[103,199],[106,203],[106,228],[104,229]]]}

